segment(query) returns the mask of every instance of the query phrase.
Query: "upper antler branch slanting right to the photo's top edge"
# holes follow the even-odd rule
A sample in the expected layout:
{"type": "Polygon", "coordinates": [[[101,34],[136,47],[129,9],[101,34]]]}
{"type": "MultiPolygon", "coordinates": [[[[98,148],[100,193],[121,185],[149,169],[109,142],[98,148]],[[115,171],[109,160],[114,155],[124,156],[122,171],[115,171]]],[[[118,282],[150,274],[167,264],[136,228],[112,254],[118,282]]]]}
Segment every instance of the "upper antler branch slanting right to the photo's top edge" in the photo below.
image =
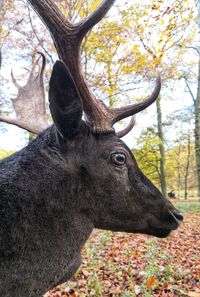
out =
{"type": "Polygon", "coordinates": [[[104,0],[92,14],[77,23],[79,36],[83,38],[109,11],[116,0],[104,0]]]}

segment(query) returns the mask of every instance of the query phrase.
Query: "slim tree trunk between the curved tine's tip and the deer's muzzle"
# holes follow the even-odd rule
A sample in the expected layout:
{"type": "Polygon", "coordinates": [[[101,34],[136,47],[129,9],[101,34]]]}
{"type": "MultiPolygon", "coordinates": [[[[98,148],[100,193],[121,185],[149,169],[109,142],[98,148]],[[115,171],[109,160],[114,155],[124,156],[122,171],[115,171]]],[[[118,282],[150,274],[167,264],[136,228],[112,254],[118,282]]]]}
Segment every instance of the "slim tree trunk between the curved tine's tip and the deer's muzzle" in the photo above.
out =
{"type": "Polygon", "coordinates": [[[166,173],[165,173],[165,147],[164,147],[164,134],[162,127],[162,111],[160,105],[160,96],[156,100],[157,107],[157,129],[158,137],[160,139],[159,151],[160,151],[160,185],[161,191],[164,197],[167,197],[167,184],[166,184],[166,173]]]}

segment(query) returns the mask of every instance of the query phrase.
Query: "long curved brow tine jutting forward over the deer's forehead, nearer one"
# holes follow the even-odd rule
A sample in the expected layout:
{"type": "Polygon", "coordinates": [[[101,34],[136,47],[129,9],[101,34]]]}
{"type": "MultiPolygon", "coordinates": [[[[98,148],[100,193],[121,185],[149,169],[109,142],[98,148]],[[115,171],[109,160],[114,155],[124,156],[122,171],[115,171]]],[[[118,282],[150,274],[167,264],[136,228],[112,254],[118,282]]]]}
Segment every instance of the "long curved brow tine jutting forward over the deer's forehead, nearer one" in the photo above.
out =
{"type": "Polygon", "coordinates": [[[160,89],[161,89],[161,77],[160,77],[159,71],[157,70],[156,85],[153,90],[153,93],[143,102],[112,109],[112,112],[113,112],[112,124],[114,125],[116,122],[146,109],[158,98],[160,89]]]}

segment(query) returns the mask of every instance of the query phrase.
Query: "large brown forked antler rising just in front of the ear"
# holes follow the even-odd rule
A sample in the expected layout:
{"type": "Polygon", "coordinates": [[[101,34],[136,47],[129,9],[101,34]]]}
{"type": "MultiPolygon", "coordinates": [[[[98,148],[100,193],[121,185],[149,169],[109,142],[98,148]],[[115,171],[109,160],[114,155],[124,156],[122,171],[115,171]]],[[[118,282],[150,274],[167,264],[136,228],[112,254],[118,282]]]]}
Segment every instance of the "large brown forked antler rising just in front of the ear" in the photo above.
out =
{"type": "MultiPolygon", "coordinates": [[[[95,98],[85,81],[80,65],[81,42],[88,31],[105,16],[115,0],[104,0],[91,15],[75,24],[65,18],[52,0],[27,1],[46,24],[59,58],[69,68],[81,95],[87,121],[94,132],[112,131],[116,122],[144,110],[156,100],[161,88],[159,74],[157,74],[152,95],[145,101],[112,109],[95,98]]],[[[124,133],[130,131],[131,126],[133,126],[133,120],[121,135],[124,136],[124,133]]]]}

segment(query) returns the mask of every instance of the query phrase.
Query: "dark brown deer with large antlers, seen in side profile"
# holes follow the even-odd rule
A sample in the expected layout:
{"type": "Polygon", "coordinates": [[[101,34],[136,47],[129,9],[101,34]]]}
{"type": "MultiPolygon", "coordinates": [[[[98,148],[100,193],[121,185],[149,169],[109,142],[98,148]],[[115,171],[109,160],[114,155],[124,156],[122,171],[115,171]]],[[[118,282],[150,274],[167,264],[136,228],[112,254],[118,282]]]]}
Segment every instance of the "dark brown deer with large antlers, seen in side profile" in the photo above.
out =
{"type": "Polygon", "coordinates": [[[107,107],[80,65],[85,34],[114,3],[72,24],[51,0],[28,0],[49,28],[58,60],[49,82],[53,124],[0,161],[0,296],[38,297],[69,280],[94,228],[166,237],[183,216],[139,169],[113,125],[157,99],[107,107]],[[84,115],[84,118],[83,118],[84,115]]]}

